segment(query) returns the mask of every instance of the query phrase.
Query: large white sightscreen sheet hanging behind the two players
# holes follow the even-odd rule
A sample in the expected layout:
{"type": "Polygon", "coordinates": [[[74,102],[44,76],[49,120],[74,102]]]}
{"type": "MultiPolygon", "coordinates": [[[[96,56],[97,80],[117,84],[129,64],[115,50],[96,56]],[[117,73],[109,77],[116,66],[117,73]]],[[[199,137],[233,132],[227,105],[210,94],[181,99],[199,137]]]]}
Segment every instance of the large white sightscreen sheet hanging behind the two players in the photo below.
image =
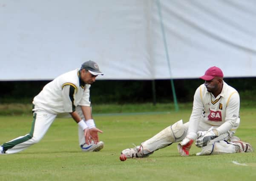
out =
{"type": "Polygon", "coordinates": [[[213,65],[256,76],[255,0],[157,2],[0,0],[0,81],[49,80],[87,60],[98,79],[197,78],[213,65]]]}

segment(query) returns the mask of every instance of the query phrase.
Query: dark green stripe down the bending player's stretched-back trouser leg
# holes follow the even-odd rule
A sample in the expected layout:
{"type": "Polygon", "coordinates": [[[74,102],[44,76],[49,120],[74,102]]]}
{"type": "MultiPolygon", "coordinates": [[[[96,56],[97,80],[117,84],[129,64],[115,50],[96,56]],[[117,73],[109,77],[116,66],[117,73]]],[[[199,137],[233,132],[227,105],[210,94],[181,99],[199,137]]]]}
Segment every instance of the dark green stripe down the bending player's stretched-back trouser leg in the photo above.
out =
{"type": "Polygon", "coordinates": [[[2,145],[4,152],[5,152],[6,150],[10,149],[10,148],[13,148],[15,145],[18,145],[18,144],[20,144],[20,143],[23,143],[23,142],[28,141],[29,139],[31,139],[31,138],[33,137],[36,117],[37,117],[37,114],[34,113],[33,122],[32,122],[32,128],[31,128],[30,133],[29,133],[28,135],[26,135],[26,136],[23,136],[22,138],[15,139],[15,140],[12,141],[12,142],[6,142],[6,143],[4,143],[4,144],[2,145]]]}

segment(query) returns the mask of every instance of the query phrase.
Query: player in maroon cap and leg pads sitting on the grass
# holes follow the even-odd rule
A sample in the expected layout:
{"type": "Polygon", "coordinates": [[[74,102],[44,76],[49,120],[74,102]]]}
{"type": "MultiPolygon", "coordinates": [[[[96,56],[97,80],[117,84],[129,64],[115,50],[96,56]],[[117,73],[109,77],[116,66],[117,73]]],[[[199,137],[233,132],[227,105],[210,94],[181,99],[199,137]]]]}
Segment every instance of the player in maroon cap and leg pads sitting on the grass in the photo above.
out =
{"type": "Polygon", "coordinates": [[[239,93],[223,81],[223,72],[210,67],[200,77],[205,82],[196,89],[189,122],[168,126],[140,146],[121,152],[127,158],[147,157],[154,151],[178,143],[181,156],[188,156],[195,142],[201,148],[196,155],[253,152],[249,143],[234,136],[239,127],[239,93]]]}

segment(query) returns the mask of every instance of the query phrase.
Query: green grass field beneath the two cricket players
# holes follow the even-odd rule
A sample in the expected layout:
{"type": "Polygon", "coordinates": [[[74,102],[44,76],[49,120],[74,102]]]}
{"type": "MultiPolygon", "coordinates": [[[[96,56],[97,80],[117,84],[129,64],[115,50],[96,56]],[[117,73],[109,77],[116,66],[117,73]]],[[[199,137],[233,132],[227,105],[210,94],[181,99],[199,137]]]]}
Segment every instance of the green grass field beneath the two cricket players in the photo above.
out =
{"type": "MultiPolygon", "coordinates": [[[[193,145],[188,157],[181,157],[177,143],[156,151],[148,158],[119,160],[125,148],[139,145],[163,128],[190,117],[190,109],[155,114],[95,114],[97,127],[104,131],[100,152],[83,153],[78,146],[77,125],[72,119],[56,119],[46,136],[21,153],[0,155],[0,181],[254,181],[256,153],[196,156],[193,145]],[[246,166],[233,164],[236,161],[246,166]]],[[[236,132],[256,148],[256,112],[240,111],[236,132]]],[[[31,115],[0,116],[0,143],[29,133],[31,115]]]]}

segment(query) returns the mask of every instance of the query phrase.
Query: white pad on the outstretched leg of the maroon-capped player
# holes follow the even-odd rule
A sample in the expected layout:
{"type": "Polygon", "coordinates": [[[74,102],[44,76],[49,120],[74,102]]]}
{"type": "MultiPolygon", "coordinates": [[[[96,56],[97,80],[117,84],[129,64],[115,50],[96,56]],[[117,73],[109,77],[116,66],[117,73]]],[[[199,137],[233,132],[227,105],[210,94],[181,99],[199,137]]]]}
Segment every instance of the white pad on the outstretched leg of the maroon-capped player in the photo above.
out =
{"type": "Polygon", "coordinates": [[[177,138],[181,137],[183,133],[183,122],[182,120],[179,120],[173,125],[163,129],[152,138],[141,143],[141,146],[143,147],[143,154],[147,155],[153,153],[155,150],[171,145],[177,138]]]}

